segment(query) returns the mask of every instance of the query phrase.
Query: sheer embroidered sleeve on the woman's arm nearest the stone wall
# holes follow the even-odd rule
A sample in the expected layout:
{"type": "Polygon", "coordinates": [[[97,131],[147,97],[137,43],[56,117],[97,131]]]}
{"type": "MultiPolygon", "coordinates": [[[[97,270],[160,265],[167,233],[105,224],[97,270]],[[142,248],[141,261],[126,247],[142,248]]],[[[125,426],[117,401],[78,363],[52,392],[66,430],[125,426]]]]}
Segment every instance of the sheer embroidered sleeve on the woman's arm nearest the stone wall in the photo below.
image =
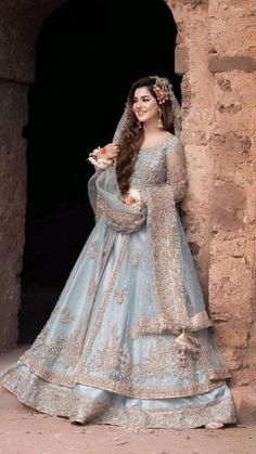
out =
{"type": "Polygon", "coordinates": [[[178,139],[166,153],[166,183],[171,186],[174,199],[178,204],[184,197],[187,179],[184,151],[178,139]]]}

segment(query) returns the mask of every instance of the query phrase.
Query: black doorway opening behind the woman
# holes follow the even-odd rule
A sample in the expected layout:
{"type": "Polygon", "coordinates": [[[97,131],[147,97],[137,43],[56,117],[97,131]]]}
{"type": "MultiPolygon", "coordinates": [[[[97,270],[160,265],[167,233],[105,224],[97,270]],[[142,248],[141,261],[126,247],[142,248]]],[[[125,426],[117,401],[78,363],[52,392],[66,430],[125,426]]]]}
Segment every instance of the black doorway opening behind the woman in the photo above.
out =
{"type": "Polygon", "coordinates": [[[72,0],[43,23],[29,92],[20,343],[48,320],[94,220],[88,153],[112,141],[138,77],[174,70],[177,29],[163,0],[72,0]]]}

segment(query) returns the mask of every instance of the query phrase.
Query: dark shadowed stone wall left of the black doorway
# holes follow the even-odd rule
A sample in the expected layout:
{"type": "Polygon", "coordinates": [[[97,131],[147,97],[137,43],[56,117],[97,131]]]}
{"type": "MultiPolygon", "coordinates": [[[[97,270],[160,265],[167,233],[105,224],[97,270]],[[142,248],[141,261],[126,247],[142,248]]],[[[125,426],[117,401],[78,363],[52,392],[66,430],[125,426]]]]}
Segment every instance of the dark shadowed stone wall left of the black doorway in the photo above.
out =
{"type": "Polygon", "coordinates": [[[15,346],[26,207],[27,90],[43,18],[64,1],[0,0],[0,351],[15,346]]]}

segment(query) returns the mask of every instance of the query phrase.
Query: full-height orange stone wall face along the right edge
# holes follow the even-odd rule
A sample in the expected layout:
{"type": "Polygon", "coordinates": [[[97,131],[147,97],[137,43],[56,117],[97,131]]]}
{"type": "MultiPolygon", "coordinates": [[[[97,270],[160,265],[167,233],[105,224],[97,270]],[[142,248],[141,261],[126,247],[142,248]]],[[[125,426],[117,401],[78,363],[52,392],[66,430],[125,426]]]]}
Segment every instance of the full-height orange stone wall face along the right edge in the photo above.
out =
{"type": "Polygon", "coordinates": [[[255,2],[212,1],[209,43],[215,98],[209,307],[233,384],[256,385],[255,2]]]}

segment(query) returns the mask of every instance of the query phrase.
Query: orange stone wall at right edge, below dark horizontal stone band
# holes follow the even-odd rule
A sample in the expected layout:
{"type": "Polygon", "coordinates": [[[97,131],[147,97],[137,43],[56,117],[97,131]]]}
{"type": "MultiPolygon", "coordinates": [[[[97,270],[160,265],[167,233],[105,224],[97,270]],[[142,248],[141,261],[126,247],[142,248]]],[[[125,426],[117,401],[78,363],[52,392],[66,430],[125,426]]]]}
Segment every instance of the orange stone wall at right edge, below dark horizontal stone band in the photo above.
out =
{"type": "MultiPolygon", "coordinates": [[[[234,385],[256,384],[253,354],[247,361],[255,321],[255,73],[215,75],[209,308],[223,352],[227,347],[240,348],[242,362],[233,373],[234,385]],[[225,81],[229,81],[228,90],[223,90],[225,81]],[[221,316],[226,322],[218,323],[221,316]]],[[[231,368],[235,364],[235,359],[230,361],[231,368]]]]}

